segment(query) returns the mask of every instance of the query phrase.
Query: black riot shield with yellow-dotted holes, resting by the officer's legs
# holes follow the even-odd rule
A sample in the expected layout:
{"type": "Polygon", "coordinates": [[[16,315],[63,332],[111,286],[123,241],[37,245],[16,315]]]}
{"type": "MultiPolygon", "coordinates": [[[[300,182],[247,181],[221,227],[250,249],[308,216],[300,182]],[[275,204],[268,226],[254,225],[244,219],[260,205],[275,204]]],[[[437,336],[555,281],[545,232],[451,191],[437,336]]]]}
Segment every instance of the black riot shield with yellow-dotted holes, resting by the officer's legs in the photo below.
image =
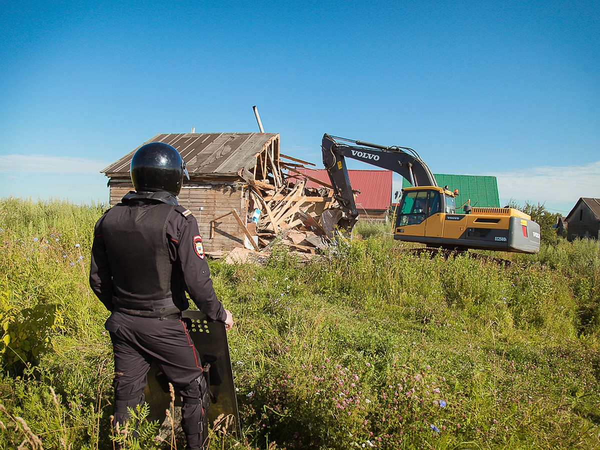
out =
{"type": "MultiPolygon", "coordinates": [[[[241,436],[239,425],[238,400],[233,385],[227,332],[223,322],[213,322],[200,311],[184,311],[182,320],[187,326],[194,346],[200,354],[203,367],[208,369],[210,406],[208,407],[209,428],[226,428],[227,434],[241,436]]],[[[145,391],[146,402],[150,405],[149,420],[166,419],[166,410],[171,403],[169,382],[157,365],[152,364],[148,372],[145,391]]],[[[181,397],[176,392],[175,407],[181,407],[181,397]]]]}

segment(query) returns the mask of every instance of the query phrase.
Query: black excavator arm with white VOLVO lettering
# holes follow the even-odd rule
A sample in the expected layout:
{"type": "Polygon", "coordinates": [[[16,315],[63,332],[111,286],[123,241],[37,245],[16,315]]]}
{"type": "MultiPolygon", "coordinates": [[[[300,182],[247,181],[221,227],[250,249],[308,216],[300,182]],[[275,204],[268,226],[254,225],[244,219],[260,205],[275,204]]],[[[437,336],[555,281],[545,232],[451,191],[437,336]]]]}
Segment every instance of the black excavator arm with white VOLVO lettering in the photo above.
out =
{"type": "Polygon", "coordinates": [[[436,179],[427,164],[408,147],[386,147],[324,134],[321,151],[323,165],[334,188],[334,197],[346,214],[347,226],[350,228],[358,217],[358,211],[356,211],[354,194],[348,177],[346,157],[399,173],[413,186],[437,186],[436,179]],[[355,145],[338,142],[340,140],[355,145]]]}

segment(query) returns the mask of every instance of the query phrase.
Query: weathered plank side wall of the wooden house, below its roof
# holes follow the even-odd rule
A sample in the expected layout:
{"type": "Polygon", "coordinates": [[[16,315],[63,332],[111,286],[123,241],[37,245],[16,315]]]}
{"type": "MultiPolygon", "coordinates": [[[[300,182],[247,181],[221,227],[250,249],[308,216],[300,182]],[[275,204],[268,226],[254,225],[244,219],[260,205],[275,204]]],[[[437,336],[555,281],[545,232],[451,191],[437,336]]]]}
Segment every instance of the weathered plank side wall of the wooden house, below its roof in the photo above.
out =
{"type": "MultiPolygon", "coordinates": [[[[111,181],[110,206],[119,203],[131,190],[131,182],[111,181]]],[[[205,251],[228,251],[244,247],[244,232],[232,214],[214,222],[211,238],[211,221],[214,218],[235,209],[242,221],[247,220],[247,187],[244,183],[215,181],[184,185],[178,201],[196,217],[205,251]]]]}

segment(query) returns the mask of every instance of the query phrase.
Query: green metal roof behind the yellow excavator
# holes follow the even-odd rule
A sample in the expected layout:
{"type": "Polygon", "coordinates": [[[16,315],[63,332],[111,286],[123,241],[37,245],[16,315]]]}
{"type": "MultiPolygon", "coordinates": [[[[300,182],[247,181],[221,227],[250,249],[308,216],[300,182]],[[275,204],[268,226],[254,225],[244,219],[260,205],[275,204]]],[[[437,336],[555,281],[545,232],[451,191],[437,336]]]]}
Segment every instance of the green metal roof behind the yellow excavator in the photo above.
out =
{"type": "MultiPolygon", "coordinates": [[[[495,176],[484,175],[448,175],[434,173],[437,185],[448,186],[454,191],[458,189],[458,196],[454,203],[457,209],[470,200],[471,206],[478,208],[500,208],[498,184],[495,176]]],[[[403,179],[402,188],[411,186],[407,179],[403,179]]]]}

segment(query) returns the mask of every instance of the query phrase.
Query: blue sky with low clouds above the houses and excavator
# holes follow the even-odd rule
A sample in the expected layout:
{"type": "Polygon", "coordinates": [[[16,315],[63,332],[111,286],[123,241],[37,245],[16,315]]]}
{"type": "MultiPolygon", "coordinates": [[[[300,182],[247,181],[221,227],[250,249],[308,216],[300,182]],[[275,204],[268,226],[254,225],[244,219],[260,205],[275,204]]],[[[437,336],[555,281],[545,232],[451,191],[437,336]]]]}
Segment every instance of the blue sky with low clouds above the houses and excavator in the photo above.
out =
{"type": "Polygon", "coordinates": [[[323,133],[409,146],[566,214],[600,197],[598,55],[597,0],[8,0],[0,197],[106,203],[99,171],[140,143],[258,131],[257,105],[318,166],[323,133]]]}

